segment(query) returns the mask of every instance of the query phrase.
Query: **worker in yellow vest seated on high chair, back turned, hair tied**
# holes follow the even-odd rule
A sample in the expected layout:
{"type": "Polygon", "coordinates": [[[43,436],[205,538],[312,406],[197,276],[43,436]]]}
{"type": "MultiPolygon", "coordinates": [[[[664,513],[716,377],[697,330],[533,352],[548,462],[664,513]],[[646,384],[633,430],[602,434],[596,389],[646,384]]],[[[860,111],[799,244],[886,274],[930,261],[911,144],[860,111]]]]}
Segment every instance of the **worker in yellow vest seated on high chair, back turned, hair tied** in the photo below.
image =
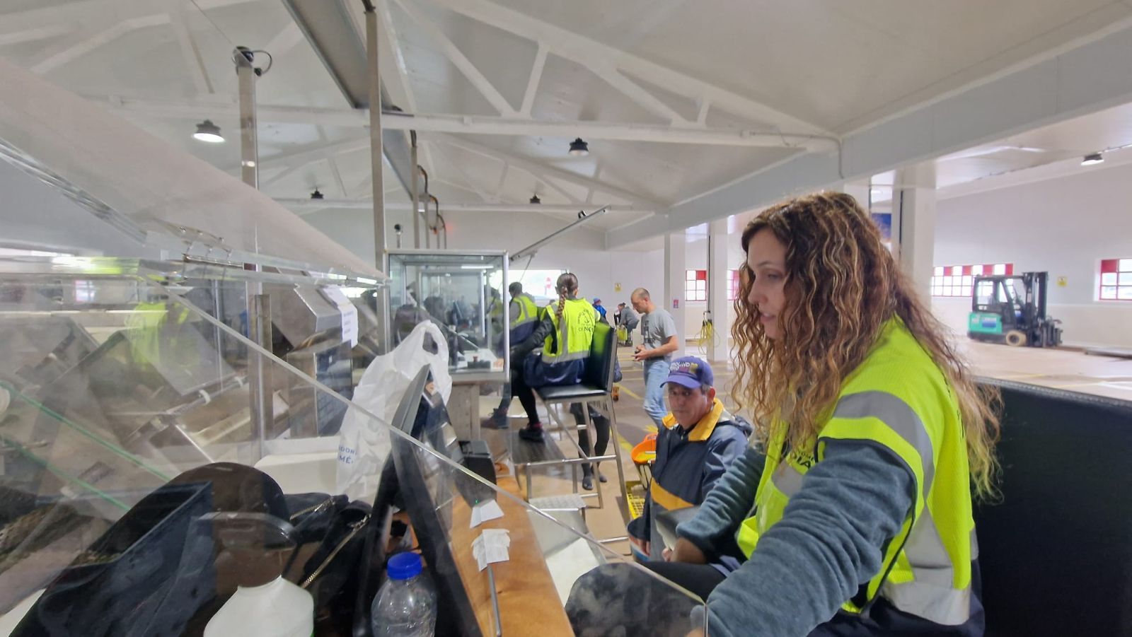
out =
{"type": "Polygon", "coordinates": [[[577,296],[577,276],[558,277],[558,300],[547,305],[534,332],[522,343],[512,344],[511,389],[526,411],[526,427],[518,434],[524,440],[542,440],[542,422],[535,410],[535,387],[576,385],[585,371],[585,359],[593,344],[598,310],[577,296]],[[534,353],[541,347],[541,352],[534,353]]]}

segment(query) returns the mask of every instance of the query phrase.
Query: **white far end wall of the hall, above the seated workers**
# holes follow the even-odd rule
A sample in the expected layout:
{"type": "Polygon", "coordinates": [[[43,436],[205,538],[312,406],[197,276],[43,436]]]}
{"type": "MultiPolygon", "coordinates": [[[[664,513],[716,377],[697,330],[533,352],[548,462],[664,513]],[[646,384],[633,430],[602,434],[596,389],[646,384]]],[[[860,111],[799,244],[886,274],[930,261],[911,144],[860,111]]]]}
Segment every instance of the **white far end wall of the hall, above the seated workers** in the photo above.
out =
{"type": "MultiPolygon", "coordinates": [[[[441,208],[443,213],[443,208],[441,208]]],[[[532,213],[457,213],[446,214],[448,248],[452,250],[507,250],[516,252],[531,243],[560,230],[569,219],[551,218],[532,213]]],[[[374,260],[374,223],[369,210],[324,210],[303,217],[308,223],[350,249],[358,256],[374,260]]],[[[395,246],[393,224],[402,225],[401,242],[412,248],[413,229],[409,213],[391,213],[389,246],[395,246]]],[[[422,240],[423,246],[423,240],[422,240]]],[[[435,247],[435,243],[434,243],[435,247]]],[[[526,267],[528,259],[513,262],[512,268],[526,267]]],[[[664,251],[649,252],[606,251],[604,233],[584,225],[541,248],[531,260],[531,268],[564,268],[575,273],[581,293],[601,299],[609,312],[617,303],[628,303],[635,287],[648,287],[658,293],[664,285],[664,251]],[[620,292],[615,290],[620,284],[620,292]]],[[[698,316],[698,315],[697,315],[698,316]]]]}

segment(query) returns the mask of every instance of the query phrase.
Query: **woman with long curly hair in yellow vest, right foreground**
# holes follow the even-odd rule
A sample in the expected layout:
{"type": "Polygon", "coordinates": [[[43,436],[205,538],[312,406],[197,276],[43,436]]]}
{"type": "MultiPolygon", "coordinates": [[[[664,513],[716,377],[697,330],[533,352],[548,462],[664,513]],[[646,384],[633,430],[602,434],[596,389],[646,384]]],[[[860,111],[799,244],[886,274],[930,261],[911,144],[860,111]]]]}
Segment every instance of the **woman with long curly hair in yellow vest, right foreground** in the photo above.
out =
{"type": "Polygon", "coordinates": [[[852,197],[743,233],[735,396],[755,444],[681,524],[681,584],[717,635],[981,635],[972,493],[997,397],[975,385],[852,197]],[[745,560],[726,578],[694,567],[745,560]]]}

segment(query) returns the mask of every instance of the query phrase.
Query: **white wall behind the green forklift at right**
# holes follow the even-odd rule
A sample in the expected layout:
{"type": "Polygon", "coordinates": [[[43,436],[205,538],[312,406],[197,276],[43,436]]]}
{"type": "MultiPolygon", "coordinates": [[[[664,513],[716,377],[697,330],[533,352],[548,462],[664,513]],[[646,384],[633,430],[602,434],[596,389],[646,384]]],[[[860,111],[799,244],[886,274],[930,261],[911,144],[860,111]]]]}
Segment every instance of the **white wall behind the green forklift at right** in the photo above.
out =
{"type": "MultiPolygon", "coordinates": [[[[1048,272],[1048,312],[1066,344],[1132,346],[1132,302],[1096,300],[1100,259],[1132,257],[1132,165],[942,199],[936,223],[936,265],[1048,272]]],[[[966,334],[969,299],[936,298],[932,309],[966,334]]]]}

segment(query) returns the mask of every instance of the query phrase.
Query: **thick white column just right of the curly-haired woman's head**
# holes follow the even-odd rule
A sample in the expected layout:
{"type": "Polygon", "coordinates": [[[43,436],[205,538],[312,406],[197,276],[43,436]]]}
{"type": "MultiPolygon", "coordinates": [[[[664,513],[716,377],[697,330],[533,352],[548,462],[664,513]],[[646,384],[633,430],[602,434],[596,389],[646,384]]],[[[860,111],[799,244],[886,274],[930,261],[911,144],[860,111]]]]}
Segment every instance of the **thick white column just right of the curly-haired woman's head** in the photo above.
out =
{"type": "Polygon", "coordinates": [[[917,292],[929,301],[935,256],[935,164],[923,162],[898,170],[892,197],[893,249],[917,292]]]}

